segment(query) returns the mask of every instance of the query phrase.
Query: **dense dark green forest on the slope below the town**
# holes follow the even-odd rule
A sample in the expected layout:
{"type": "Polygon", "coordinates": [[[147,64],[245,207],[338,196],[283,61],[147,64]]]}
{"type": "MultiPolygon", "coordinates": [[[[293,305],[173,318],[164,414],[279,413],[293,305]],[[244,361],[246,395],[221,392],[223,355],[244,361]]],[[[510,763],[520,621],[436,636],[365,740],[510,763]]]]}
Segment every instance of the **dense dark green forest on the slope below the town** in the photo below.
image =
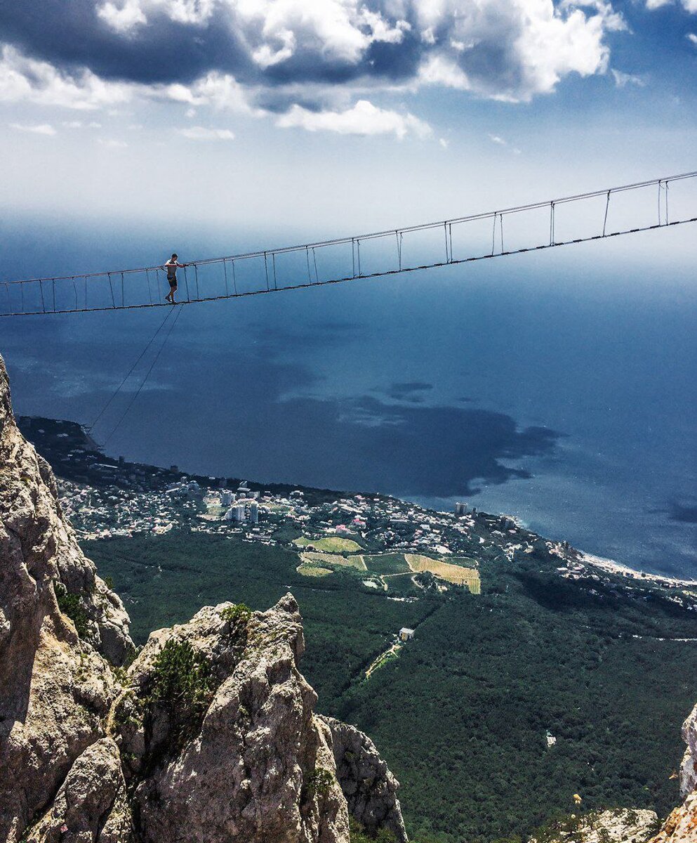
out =
{"type": "Polygon", "coordinates": [[[179,532],[85,542],[137,643],[223,600],[301,606],[318,709],[375,740],[418,843],[528,835],[551,815],[678,801],[679,728],[697,700],[694,612],[658,588],[569,581],[541,550],[482,563],[465,588],[407,602],[359,577],[297,573],[292,550],[179,532]],[[370,680],[402,626],[416,630],[370,680]],[[556,738],[548,746],[547,736],[556,738]]]}

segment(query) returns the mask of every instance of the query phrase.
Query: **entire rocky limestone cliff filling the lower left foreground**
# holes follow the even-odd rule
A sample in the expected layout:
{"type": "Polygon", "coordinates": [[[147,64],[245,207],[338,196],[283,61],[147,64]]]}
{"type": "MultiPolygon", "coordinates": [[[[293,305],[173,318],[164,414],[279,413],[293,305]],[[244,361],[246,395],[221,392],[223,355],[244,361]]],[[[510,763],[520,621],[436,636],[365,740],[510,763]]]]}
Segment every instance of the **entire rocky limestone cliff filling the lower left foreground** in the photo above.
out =
{"type": "Polygon", "coordinates": [[[375,747],[314,713],[303,647],[287,594],[201,609],[126,669],[128,616],[14,423],[0,359],[0,841],[348,843],[349,809],[406,840],[375,747]]]}

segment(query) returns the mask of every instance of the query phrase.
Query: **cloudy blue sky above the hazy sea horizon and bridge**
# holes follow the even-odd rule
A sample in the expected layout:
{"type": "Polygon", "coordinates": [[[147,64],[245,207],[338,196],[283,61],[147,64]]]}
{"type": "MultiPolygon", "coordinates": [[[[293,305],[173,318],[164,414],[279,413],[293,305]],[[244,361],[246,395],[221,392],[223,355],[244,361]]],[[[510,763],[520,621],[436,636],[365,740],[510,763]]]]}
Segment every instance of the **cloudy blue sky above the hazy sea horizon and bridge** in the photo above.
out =
{"type": "Polygon", "coordinates": [[[277,244],[694,169],[697,0],[23,0],[0,45],[26,219],[277,244]]]}

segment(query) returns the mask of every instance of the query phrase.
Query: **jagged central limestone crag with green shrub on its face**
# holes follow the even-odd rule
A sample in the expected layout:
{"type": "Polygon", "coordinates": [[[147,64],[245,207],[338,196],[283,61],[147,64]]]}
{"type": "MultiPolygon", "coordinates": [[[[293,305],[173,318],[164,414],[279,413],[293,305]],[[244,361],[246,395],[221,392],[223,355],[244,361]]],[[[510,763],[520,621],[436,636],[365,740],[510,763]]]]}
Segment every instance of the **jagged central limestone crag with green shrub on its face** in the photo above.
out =
{"type": "Polygon", "coordinates": [[[295,599],[235,611],[206,607],[153,633],[114,706],[140,840],[348,840],[331,734],[297,667],[295,599]]]}

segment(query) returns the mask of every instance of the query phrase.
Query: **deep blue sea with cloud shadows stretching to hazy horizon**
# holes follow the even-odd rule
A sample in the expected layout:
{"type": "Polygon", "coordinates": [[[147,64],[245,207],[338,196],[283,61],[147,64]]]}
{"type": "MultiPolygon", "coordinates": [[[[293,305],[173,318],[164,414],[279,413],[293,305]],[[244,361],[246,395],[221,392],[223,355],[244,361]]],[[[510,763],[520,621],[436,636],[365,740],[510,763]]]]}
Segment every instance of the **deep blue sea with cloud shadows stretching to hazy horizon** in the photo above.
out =
{"type": "MultiPolygon", "coordinates": [[[[173,250],[126,223],[42,225],[0,227],[0,282],[173,250]]],[[[180,260],[231,251],[224,231],[187,236],[180,260]]],[[[296,236],[249,231],[234,250],[296,236]]],[[[668,234],[645,236],[636,254],[574,245],[187,305],[157,335],[165,309],[0,319],[0,353],[17,414],[98,419],[113,456],[464,501],[697,577],[697,277],[662,256],[668,234]]]]}

